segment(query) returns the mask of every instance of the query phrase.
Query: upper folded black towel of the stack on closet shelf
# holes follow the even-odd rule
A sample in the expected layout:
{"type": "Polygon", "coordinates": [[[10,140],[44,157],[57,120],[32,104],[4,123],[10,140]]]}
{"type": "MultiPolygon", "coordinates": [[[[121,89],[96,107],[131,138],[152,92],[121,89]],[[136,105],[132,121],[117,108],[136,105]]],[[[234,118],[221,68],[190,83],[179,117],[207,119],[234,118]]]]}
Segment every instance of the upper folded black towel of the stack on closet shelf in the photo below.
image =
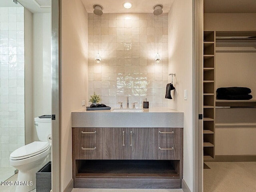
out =
{"type": "Polygon", "coordinates": [[[252,90],[247,87],[220,87],[216,90],[217,96],[220,95],[247,95],[252,90]]]}

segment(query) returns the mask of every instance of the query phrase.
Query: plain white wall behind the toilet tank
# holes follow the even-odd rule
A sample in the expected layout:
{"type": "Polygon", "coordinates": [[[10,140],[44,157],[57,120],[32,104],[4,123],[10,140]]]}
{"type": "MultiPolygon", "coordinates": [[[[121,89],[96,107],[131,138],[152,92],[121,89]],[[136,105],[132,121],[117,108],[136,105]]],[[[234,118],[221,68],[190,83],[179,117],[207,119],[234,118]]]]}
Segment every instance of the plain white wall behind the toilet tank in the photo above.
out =
{"type": "MultiPolygon", "coordinates": [[[[51,114],[51,14],[33,14],[33,122],[51,114]]],[[[38,140],[34,128],[34,140],[38,140]]]]}

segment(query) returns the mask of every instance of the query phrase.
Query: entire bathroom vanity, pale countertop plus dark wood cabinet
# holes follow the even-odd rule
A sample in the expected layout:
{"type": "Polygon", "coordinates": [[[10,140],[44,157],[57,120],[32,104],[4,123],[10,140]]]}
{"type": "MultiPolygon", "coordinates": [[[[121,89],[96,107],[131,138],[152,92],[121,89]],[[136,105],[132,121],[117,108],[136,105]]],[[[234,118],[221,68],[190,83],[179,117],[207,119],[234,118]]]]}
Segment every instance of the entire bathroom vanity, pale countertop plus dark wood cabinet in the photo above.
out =
{"type": "Polygon", "coordinates": [[[181,188],[182,168],[183,112],[72,112],[74,188],[181,188]]]}

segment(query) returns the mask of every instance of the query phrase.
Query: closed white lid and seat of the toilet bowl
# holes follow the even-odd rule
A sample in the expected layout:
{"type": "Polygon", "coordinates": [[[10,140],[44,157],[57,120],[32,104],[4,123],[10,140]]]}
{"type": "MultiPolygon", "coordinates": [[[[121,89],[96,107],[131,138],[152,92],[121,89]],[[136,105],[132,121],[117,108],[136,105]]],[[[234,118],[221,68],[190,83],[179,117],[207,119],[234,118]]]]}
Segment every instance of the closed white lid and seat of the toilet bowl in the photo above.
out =
{"type": "Polygon", "coordinates": [[[30,144],[27,144],[16,149],[14,152],[10,154],[10,159],[20,160],[31,156],[35,156],[46,151],[49,147],[50,144],[47,141],[34,141],[30,144]]]}

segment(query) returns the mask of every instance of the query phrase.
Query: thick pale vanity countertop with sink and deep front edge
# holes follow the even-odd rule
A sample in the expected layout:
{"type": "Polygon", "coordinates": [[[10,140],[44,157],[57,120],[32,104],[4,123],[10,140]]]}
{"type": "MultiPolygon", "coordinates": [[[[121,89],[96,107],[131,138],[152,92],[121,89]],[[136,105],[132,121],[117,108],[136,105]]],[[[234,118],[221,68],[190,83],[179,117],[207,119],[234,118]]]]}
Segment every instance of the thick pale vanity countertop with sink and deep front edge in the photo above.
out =
{"type": "Polygon", "coordinates": [[[72,127],[183,128],[183,125],[183,112],[168,107],[143,112],[86,111],[86,108],[72,112],[72,127]]]}

